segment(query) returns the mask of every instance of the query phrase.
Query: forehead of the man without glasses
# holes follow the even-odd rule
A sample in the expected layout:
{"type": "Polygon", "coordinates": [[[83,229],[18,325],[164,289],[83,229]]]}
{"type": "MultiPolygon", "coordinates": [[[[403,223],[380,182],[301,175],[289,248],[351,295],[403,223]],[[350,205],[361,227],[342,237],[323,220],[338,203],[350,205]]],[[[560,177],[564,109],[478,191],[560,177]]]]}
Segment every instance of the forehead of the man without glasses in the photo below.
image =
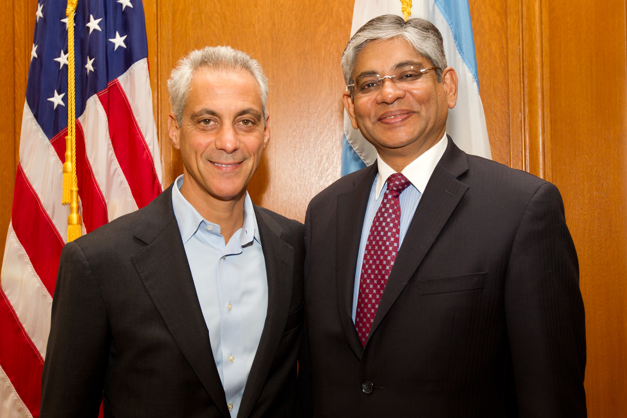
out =
{"type": "Polygon", "coordinates": [[[255,107],[261,111],[261,90],[246,70],[200,68],[189,83],[186,108],[255,107]]]}

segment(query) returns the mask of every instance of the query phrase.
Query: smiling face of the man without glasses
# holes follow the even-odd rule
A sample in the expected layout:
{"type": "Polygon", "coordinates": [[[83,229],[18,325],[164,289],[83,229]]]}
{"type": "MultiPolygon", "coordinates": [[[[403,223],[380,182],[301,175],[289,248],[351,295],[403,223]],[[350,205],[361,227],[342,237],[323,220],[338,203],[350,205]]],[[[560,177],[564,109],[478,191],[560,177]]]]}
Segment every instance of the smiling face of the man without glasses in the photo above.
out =
{"type": "Polygon", "coordinates": [[[264,122],[260,88],[248,71],[196,71],[182,124],[174,113],[169,118],[172,145],[181,150],[186,194],[241,199],[270,140],[270,125],[264,122]]]}

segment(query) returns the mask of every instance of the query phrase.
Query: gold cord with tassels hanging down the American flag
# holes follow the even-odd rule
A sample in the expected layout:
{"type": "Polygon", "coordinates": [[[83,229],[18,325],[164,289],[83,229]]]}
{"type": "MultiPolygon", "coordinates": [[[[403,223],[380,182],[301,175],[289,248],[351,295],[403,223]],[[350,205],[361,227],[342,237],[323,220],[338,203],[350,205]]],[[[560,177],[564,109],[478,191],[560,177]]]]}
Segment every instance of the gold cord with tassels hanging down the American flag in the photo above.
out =
{"type": "Polygon", "coordinates": [[[68,243],[80,237],[82,219],[78,214],[78,177],[76,177],[76,122],[74,103],[74,12],[78,0],[68,0],[68,136],[65,137],[63,163],[63,204],[70,204],[68,243]]]}

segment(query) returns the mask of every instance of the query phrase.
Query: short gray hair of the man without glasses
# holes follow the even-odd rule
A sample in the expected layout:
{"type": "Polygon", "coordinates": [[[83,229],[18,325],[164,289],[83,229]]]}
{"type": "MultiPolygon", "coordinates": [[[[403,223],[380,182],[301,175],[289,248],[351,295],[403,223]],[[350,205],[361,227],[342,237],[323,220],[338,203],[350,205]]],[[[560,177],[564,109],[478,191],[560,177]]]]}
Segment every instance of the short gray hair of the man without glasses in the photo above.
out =
{"type": "Polygon", "coordinates": [[[230,46],[205,46],[202,50],[193,50],[181,58],[176,68],[172,70],[170,78],[167,80],[167,90],[170,93],[172,112],[174,112],[179,125],[183,123],[183,111],[189,96],[189,85],[194,73],[200,68],[248,71],[257,81],[261,91],[261,110],[265,125],[268,117],[266,111],[268,78],[266,78],[263,68],[257,60],[253,60],[247,53],[234,50],[230,46]]]}

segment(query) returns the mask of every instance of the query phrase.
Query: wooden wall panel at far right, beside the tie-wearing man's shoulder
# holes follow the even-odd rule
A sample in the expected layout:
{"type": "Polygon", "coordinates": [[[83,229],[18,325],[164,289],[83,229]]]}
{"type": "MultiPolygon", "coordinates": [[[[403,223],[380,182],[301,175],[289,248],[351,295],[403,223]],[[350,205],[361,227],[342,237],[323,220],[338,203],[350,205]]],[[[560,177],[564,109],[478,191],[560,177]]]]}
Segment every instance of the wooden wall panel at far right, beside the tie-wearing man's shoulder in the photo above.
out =
{"type": "Polygon", "coordinates": [[[579,255],[588,411],[590,417],[626,417],[625,2],[548,4],[552,180],[564,197],[579,255]]]}

